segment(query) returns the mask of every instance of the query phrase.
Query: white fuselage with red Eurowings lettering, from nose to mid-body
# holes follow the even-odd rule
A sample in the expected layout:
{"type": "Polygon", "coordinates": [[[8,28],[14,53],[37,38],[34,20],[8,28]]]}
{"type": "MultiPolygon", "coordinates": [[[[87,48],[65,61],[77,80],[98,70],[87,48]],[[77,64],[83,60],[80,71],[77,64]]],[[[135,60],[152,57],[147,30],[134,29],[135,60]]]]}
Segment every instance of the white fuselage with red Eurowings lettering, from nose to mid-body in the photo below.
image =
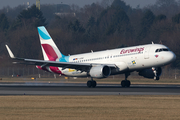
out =
{"type": "MultiPolygon", "coordinates": [[[[176,59],[176,55],[166,46],[161,44],[148,44],[134,47],[126,47],[100,52],[91,52],[69,56],[68,62],[92,63],[92,64],[114,64],[116,71],[111,75],[124,73],[124,71],[137,71],[151,67],[161,67],[176,59]]],[[[62,74],[66,76],[86,77],[87,72],[75,69],[63,69],[59,67],[62,74]]]]}

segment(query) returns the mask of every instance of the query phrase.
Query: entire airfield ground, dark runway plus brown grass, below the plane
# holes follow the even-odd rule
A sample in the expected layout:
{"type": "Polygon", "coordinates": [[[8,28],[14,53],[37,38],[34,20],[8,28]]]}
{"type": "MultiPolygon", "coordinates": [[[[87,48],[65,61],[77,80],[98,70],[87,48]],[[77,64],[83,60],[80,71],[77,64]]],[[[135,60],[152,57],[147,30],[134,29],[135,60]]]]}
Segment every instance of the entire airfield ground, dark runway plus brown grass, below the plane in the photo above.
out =
{"type": "Polygon", "coordinates": [[[179,80],[3,78],[0,81],[2,120],[179,120],[179,80]]]}

